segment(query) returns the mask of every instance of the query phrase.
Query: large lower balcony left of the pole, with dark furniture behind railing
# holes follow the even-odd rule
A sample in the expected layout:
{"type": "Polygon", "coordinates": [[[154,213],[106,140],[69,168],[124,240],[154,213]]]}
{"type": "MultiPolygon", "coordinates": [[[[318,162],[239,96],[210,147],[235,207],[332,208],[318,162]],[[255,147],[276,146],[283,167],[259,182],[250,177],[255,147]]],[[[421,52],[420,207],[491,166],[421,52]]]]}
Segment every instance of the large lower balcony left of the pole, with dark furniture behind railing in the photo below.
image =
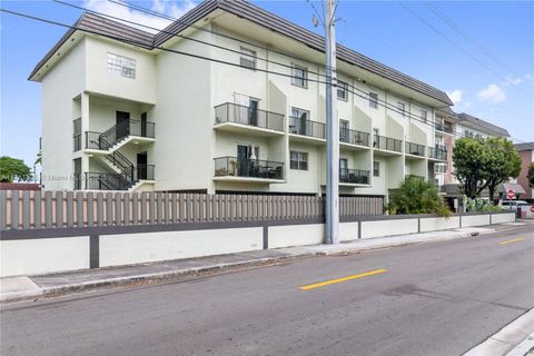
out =
{"type": "Polygon", "coordinates": [[[214,180],[284,182],[284,162],[218,157],[214,180]]]}

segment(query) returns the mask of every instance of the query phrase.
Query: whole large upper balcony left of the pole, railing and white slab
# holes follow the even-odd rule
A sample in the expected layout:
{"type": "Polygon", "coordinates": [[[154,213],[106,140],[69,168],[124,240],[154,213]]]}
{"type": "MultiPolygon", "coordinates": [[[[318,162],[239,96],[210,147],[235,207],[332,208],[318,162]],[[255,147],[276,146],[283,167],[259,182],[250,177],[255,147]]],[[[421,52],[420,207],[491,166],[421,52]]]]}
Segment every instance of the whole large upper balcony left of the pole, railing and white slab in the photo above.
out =
{"type": "Polygon", "coordinates": [[[215,107],[215,129],[259,136],[284,135],[284,115],[226,102],[215,107]]]}

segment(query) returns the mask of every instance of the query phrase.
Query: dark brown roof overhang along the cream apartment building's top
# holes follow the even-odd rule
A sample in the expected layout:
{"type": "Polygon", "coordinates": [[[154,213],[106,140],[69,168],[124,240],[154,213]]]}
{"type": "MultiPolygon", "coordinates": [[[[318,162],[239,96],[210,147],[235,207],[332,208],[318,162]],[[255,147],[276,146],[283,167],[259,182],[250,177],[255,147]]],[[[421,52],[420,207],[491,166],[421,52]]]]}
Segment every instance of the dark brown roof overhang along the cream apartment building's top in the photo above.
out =
{"type": "MultiPolygon", "coordinates": [[[[65,50],[68,50],[75,44],[68,42],[71,36],[77,36],[77,31],[111,38],[125,38],[139,43],[141,48],[158,50],[174,38],[172,33],[181,33],[184,30],[190,28],[190,23],[208,20],[208,17],[210,17],[209,20],[238,32],[243,32],[243,27],[246,26],[248,37],[256,38],[264,43],[271,41],[276,43],[277,47],[280,46],[281,51],[295,53],[296,56],[300,53],[307,60],[312,59],[317,63],[324,62],[324,37],[244,0],[206,0],[157,34],[151,34],[108,18],[86,12],[36,66],[29,79],[39,81],[39,78],[42,78],[44,75],[42,68],[44,67],[46,69],[46,66],[51,68],[51,66],[59,60],[59,57],[62,56],[61,51],[66,53],[65,50]],[[221,12],[231,16],[210,17],[212,13],[221,12]],[[60,55],[58,56],[57,52],[60,55]],[[55,57],[58,57],[58,59],[55,57]]],[[[76,41],[75,38],[72,42],[76,41]]],[[[378,88],[388,88],[408,100],[413,99],[431,107],[453,105],[444,91],[382,65],[342,44],[337,47],[337,59],[340,62],[338,66],[339,71],[359,78],[359,80],[378,88]]]]}

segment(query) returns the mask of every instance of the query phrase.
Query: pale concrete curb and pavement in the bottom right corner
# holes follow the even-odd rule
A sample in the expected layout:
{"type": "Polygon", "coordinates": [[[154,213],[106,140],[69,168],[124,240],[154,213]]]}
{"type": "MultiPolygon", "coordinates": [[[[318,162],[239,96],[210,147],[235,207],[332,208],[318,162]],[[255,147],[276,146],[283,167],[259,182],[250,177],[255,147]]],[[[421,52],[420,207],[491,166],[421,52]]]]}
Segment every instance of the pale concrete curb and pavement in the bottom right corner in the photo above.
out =
{"type": "Polygon", "coordinates": [[[524,342],[533,342],[530,340],[532,333],[534,333],[534,309],[530,309],[463,356],[523,356],[528,348],[525,347],[524,353],[521,348],[526,346],[524,342]]]}

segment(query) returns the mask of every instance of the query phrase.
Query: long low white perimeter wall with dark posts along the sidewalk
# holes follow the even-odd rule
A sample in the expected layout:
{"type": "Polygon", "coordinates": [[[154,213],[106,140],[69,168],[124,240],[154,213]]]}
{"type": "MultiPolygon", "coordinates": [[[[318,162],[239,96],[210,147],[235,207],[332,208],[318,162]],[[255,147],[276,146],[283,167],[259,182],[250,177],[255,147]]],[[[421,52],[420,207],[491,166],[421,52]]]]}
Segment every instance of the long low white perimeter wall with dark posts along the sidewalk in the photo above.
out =
{"type": "MultiPolygon", "coordinates": [[[[515,214],[494,214],[493,224],[515,221],[515,214]]],[[[490,215],[464,215],[462,226],[490,225],[490,215]]],[[[421,218],[421,231],[459,227],[459,217],[421,218]]],[[[139,233],[100,236],[100,266],[225,255],[263,249],[263,227],[139,233]]],[[[416,234],[418,219],[362,221],[362,238],[416,234]]],[[[358,239],[358,221],[340,222],[340,241],[358,239]]],[[[318,245],[323,224],[268,227],[269,248],[318,245]]],[[[89,268],[89,237],[36,238],[0,241],[0,277],[28,276],[89,268]]]]}

